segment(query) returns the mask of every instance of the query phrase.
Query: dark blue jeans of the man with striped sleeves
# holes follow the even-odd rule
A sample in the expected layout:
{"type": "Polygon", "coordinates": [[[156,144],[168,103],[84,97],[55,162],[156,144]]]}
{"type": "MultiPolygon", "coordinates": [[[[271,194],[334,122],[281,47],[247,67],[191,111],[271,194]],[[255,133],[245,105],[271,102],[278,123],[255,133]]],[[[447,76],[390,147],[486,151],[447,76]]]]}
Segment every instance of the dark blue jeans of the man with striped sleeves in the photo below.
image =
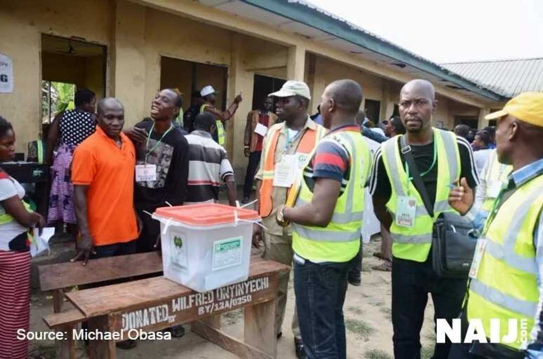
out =
{"type": "Polygon", "coordinates": [[[343,303],[352,261],[313,263],[294,256],[294,292],[308,359],[345,359],[343,303]]]}

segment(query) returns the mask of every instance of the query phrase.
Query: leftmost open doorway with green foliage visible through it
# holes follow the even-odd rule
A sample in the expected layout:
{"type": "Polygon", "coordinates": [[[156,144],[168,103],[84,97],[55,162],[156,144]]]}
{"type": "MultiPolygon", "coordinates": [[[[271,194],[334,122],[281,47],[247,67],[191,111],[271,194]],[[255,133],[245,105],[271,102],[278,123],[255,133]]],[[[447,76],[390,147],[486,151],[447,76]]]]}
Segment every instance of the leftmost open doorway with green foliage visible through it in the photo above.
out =
{"type": "Polygon", "coordinates": [[[55,115],[73,107],[77,89],[105,96],[107,49],[65,37],[41,35],[42,134],[55,115]]]}

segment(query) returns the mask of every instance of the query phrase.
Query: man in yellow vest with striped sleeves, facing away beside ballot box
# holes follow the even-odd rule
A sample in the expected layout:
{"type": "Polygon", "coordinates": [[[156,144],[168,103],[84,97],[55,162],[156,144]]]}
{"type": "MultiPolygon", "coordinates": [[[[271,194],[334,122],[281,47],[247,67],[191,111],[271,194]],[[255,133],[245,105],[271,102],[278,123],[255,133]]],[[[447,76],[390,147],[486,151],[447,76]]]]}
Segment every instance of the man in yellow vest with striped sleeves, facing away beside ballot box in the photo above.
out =
{"type": "Polygon", "coordinates": [[[277,222],[292,222],[296,308],[310,359],[346,357],[343,304],[349,269],[360,250],[364,185],[371,169],[368,144],[355,122],[361,103],[355,81],[326,87],[320,113],[330,131],[299,174],[294,207],[277,211],[277,222]]]}

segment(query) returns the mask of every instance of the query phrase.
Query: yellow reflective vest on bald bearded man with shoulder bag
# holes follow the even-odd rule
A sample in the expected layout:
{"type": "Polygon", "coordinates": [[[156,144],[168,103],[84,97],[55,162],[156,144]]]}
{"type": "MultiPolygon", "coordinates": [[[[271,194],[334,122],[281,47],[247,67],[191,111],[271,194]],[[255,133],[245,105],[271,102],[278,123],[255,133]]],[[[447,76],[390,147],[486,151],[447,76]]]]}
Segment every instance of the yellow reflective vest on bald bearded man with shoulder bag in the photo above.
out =
{"type": "MultiPolygon", "coordinates": [[[[387,171],[392,192],[386,206],[393,221],[390,235],[393,238],[392,254],[401,259],[424,262],[432,246],[432,229],[436,218],[442,212],[453,211],[449,205],[449,185],[460,177],[460,153],[456,135],[437,128],[434,131],[437,150],[438,180],[435,190],[434,217],[430,217],[424,202],[413,182],[407,180],[400,157],[399,138],[393,137],[382,144],[384,168],[387,171]],[[415,223],[410,227],[396,224],[397,201],[400,196],[416,199],[415,223]]],[[[402,135],[400,135],[402,136],[402,135]]]]}

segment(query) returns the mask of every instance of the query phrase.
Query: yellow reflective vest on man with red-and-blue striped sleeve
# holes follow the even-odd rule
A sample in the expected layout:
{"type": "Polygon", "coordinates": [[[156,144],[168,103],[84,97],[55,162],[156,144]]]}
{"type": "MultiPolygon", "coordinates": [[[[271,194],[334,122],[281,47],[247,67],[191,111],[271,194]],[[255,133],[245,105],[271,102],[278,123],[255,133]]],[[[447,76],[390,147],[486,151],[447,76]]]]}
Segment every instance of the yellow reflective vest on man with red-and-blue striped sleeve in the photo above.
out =
{"type": "MultiPolygon", "coordinates": [[[[358,131],[339,131],[325,136],[323,141],[336,141],[347,150],[350,178],[336,202],[332,221],[326,227],[292,223],[292,248],[296,254],[312,262],[347,262],[360,248],[364,185],[371,168],[371,155],[368,144],[358,131]]],[[[313,193],[302,177],[294,207],[310,203],[312,198],[313,193]]]]}

